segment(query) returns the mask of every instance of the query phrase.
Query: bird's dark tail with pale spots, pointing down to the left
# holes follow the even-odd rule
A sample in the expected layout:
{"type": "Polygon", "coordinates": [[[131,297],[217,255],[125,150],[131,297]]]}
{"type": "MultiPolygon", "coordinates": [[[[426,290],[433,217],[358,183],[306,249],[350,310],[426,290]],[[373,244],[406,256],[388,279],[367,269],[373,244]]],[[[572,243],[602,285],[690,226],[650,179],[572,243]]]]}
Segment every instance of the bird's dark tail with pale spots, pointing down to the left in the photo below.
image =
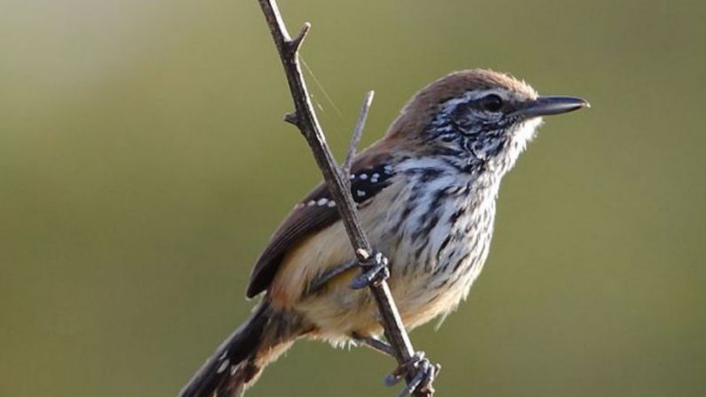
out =
{"type": "Polygon", "coordinates": [[[300,317],[263,301],[179,392],[179,397],[235,397],[305,333],[300,317]]]}

